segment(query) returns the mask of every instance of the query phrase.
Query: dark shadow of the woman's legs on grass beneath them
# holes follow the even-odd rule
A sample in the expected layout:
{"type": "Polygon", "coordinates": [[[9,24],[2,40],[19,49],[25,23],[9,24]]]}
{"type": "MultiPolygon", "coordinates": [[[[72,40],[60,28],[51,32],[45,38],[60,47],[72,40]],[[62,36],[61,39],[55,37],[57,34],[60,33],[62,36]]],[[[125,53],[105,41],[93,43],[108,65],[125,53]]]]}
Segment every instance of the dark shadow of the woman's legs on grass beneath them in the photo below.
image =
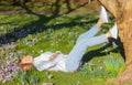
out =
{"type": "Polygon", "coordinates": [[[111,51],[109,52],[113,52],[113,53],[120,53],[121,56],[124,59],[125,61],[125,57],[124,57],[124,50],[123,50],[123,45],[120,41],[120,39],[118,40],[114,40],[114,39],[109,39],[109,43],[106,44],[105,46],[101,46],[100,49],[98,50],[94,50],[94,51],[89,51],[87,52],[84,57],[82,57],[82,64],[85,64],[86,62],[89,62],[90,60],[92,60],[94,57],[100,57],[100,56],[103,56],[106,54],[109,54],[109,52],[105,52],[105,50],[109,46],[112,45],[112,42],[116,42],[116,44],[118,45],[116,49],[112,49],[111,51]],[[102,52],[103,51],[103,52],[102,52]]]}

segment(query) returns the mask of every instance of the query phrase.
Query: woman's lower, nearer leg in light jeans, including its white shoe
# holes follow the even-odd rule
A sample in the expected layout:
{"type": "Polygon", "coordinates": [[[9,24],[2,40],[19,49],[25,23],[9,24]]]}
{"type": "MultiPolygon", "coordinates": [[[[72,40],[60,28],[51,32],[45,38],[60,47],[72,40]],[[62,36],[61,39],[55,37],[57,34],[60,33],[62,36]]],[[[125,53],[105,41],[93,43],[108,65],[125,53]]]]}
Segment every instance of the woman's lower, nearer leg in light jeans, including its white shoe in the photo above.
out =
{"type": "Polygon", "coordinates": [[[113,38],[113,39],[118,38],[117,24],[114,24],[110,29],[110,31],[107,32],[106,34],[94,36],[90,39],[85,38],[78,43],[76,43],[76,45],[70,51],[70,53],[67,55],[67,59],[65,61],[67,71],[73,72],[78,68],[79,63],[82,59],[82,55],[85,54],[88,46],[95,46],[103,42],[108,42],[108,38],[113,38]]]}

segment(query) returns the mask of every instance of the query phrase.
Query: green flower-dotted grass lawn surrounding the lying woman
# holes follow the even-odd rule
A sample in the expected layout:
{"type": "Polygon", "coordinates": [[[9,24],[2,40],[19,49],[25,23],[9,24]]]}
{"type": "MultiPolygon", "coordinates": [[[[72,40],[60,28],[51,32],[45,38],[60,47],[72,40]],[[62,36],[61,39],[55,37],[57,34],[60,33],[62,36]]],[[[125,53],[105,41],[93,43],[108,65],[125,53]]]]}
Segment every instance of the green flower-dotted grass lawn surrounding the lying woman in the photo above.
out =
{"type": "MultiPolygon", "coordinates": [[[[13,56],[33,55],[35,57],[45,51],[69,53],[78,35],[89,30],[97,22],[98,15],[7,14],[0,15],[0,34],[6,34],[7,40],[1,38],[1,41],[4,44],[11,41],[15,43],[13,56]],[[14,35],[15,33],[16,35],[14,35]]],[[[108,31],[112,23],[103,24],[98,34],[108,31]]],[[[9,49],[3,51],[6,53],[1,54],[2,59],[7,57],[12,50],[9,53],[7,52],[9,49]]],[[[2,50],[0,52],[3,53],[2,50]]],[[[38,72],[33,68],[31,72],[16,75],[14,82],[0,84],[21,85],[24,83],[24,85],[33,85],[35,83],[42,85],[45,82],[51,82],[54,85],[103,85],[108,78],[116,77],[124,65],[120,50],[108,43],[89,47],[82,61],[85,62],[82,68],[75,73],[38,72]],[[111,56],[116,59],[111,59],[111,56]],[[50,77],[51,75],[52,77],[50,77]]]]}

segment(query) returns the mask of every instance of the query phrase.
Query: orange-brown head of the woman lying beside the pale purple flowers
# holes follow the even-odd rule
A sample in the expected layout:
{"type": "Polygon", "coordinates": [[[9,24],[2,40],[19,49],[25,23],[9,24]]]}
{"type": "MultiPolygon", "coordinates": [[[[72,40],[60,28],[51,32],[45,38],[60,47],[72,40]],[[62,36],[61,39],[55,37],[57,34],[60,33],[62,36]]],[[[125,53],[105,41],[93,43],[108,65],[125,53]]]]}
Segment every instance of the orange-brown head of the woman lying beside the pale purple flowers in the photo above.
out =
{"type": "Polygon", "coordinates": [[[30,55],[26,56],[22,56],[19,60],[19,66],[23,70],[23,71],[30,71],[33,66],[33,57],[30,55]]]}

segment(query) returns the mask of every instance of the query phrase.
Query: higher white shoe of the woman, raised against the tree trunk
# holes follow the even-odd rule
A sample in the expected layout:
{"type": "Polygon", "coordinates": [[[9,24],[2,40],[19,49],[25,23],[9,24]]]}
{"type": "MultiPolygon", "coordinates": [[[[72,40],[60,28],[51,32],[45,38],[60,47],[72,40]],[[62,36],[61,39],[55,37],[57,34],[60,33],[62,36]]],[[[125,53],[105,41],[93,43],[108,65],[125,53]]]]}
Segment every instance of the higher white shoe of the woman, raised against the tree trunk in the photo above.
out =
{"type": "Polygon", "coordinates": [[[103,23],[109,22],[108,12],[102,6],[101,6],[101,11],[100,11],[100,19],[103,21],[103,23]]]}

